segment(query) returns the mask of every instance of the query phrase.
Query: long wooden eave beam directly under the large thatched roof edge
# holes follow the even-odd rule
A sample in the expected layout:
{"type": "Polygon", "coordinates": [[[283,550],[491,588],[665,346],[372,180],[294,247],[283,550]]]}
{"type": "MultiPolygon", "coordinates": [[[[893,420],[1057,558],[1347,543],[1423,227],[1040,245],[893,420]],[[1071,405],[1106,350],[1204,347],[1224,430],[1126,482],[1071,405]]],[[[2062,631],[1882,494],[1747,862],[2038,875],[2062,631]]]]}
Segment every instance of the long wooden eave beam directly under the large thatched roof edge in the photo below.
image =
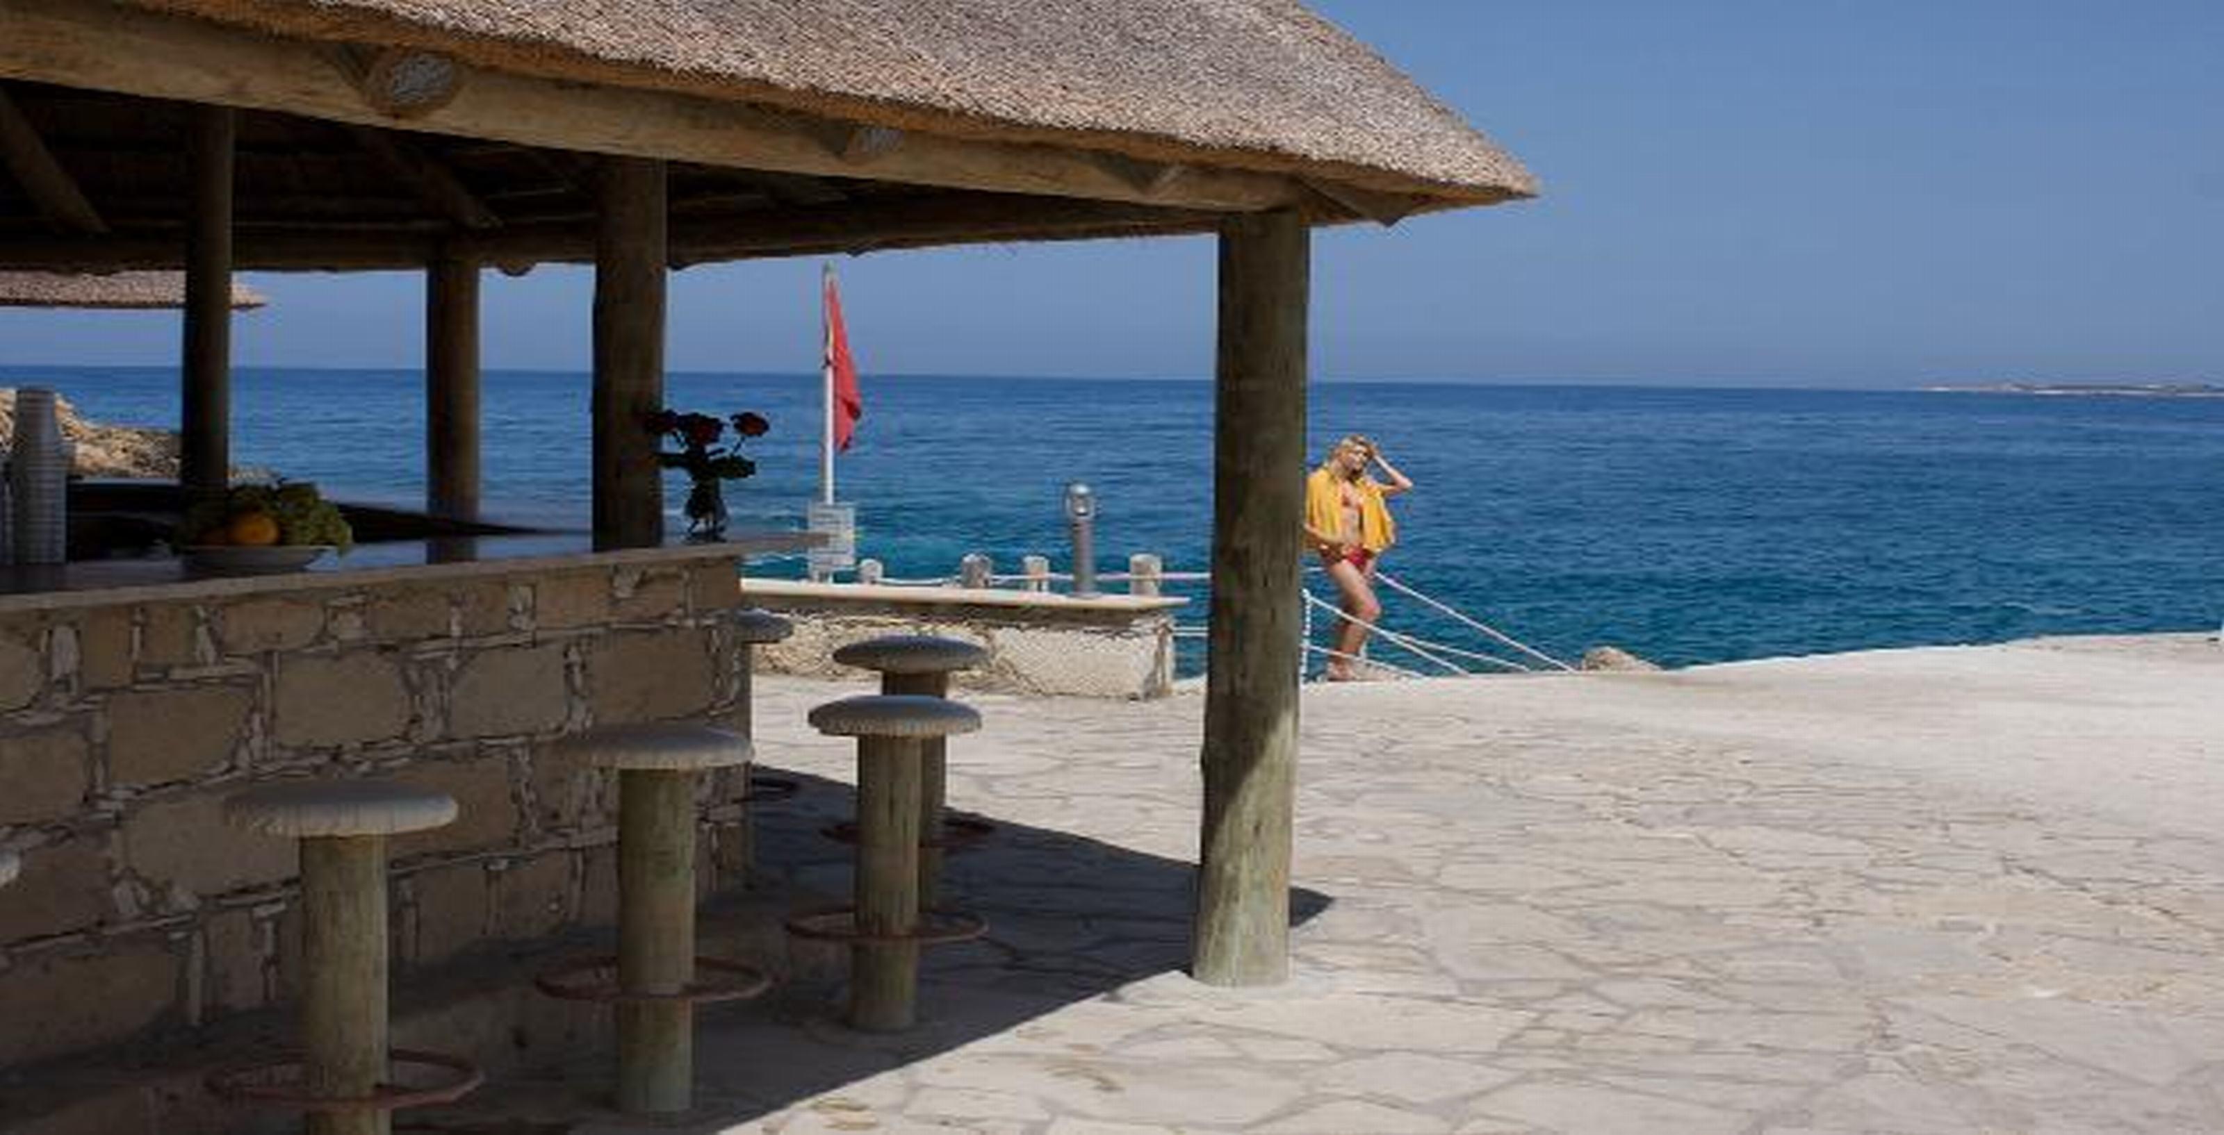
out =
{"type": "MultiPolygon", "coordinates": [[[[409,120],[369,107],[320,44],[80,0],[0,2],[0,78],[185,102],[218,102],[423,129],[532,147],[787,173],[856,175],[825,144],[825,118],[667,91],[469,71],[454,102],[409,120]]],[[[1259,211],[1310,193],[1277,173],[1192,169],[1150,195],[1103,169],[1099,151],[905,131],[872,160],[885,182],[1259,211]]]]}

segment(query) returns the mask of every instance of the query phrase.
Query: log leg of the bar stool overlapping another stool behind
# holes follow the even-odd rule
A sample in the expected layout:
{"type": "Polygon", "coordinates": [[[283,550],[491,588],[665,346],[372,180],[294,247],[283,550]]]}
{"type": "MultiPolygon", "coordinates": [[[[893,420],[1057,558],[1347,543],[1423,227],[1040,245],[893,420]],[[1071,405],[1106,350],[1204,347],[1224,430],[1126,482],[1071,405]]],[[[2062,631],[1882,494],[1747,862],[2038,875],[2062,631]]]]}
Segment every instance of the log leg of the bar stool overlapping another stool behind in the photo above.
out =
{"type": "MultiPolygon", "coordinates": [[[[914,737],[856,740],[856,928],[919,928],[919,784],[914,737]]],[[[919,942],[850,948],[850,1026],[898,1033],[919,1015],[919,942]]]]}

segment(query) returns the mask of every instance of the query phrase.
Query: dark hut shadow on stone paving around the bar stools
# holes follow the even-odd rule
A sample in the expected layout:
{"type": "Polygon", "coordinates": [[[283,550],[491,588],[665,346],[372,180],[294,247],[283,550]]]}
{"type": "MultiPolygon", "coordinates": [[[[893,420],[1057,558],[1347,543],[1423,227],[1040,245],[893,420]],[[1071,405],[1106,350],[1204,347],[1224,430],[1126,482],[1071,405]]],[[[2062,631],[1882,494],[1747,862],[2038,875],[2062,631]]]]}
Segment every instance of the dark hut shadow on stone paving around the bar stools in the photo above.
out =
{"type": "MultiPolygon", "coordinates": [[[[765,773],[783,775],[776,769],[765,773]]],[[[1179,973],[1190,962],[1197,866],[1063,831],[1007,824],[954,853],[943,906],[983,915],[985,937],[927,948],[921,962],[921,1024],[901,1035],[863,1035],[841,1024],[841,946],[785,940],[778,915],[843,900],[850,848],[821,835],[847,820],[854,789],[792,775],[801,791],[754,808],[756,886],[741,902],[705,911],[707,948],[783,973],[758,1002],[705,1008],[696,1017],[696,1111],[663,1122],[607,1111],[607,1053],[498,1077],[476,1097],[438,1113],[398,1115],[396,1133],[443,1135],[618,1135],[754,1131],[752,1119],[827,1095],[827,1126],[843,1131],[841,1088],[990,1037],[1025,1042],[1027,1024],[1132,982],[1179,973]],[[1019,1033],[1014,1037],[1014,1033],[1019,1033]]],[[[1301,924],[1330,900],[1292,888],[1301,924]]]]}

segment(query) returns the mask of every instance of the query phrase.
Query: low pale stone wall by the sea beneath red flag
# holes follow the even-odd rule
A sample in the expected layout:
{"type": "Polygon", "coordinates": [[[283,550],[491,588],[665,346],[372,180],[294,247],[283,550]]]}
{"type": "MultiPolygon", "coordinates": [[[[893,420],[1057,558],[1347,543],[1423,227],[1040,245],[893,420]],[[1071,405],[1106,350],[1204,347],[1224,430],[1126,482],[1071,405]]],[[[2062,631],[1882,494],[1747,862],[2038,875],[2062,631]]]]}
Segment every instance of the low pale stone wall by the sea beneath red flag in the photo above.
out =
{"type": "Polygon", "coordinates": [[[747,580],[749,604],[796,633],[758,649],[763,673],[858,677],[836,646],[874,635],[947,635],[987,646],[961,686],[1074,697],[1165,697],[1174,689],[1174,611],[1188,600],[1030,591],[747,580]]]}

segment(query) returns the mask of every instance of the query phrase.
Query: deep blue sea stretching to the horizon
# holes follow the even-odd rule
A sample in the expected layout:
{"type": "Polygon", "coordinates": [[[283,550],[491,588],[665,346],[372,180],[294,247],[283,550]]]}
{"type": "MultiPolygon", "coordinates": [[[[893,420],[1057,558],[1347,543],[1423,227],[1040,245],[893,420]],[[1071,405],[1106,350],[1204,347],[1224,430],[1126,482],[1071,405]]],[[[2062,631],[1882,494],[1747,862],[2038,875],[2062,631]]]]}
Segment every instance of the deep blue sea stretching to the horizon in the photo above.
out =
{"type": "MultiPolygon", "coordinates": [[[[9,371],[96,420],[176,422],[173,371],[9,371]]],[[[492,518],[585,526],[587,386],[485,378],[492,518]]],[[[234,458],[416,504],[420,389],[416,371],[240,371],[234,458]]],[[[667,391],[774,420],[729,502],[738,526],[801,526],[816,378],[676,373],[667,391]]],[[[1208,382],[867,378],[841,495],[861,551],[898,577],[950,575],[970,551],[1065,571],[1072,480],[1101,498],[1101,571],[1130,551],[1201,571],[1210,431],[1208,382]]],[[[2224,400],[1368,382],[1317,384],[1312,431],[1314,453],[1368,433],[1419,482],[1386,571],[1561,655],[1610,642],[1692,664],[2224,622],[2224,400]]],[[[1388,606],[1392,629],[1477,644],[1388,606]]]]}

